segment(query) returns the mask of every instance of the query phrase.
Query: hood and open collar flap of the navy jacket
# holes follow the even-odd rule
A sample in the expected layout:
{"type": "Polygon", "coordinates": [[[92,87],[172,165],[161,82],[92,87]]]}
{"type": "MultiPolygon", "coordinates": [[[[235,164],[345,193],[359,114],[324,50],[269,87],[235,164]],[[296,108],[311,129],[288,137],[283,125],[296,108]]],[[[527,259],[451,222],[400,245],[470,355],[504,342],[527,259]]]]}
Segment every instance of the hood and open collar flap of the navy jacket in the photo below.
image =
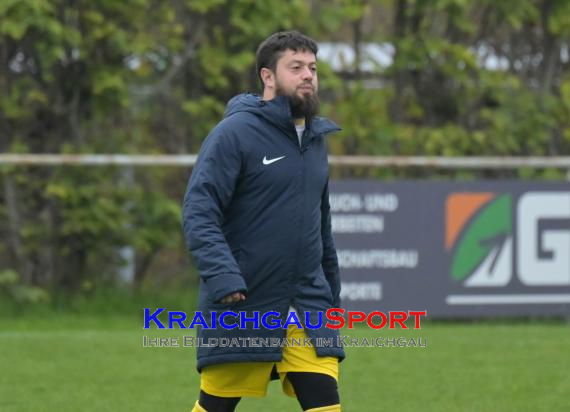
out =
{"type": "MultiPolygon", "coordinates": [[[[289,99],[286,96],[277,96],[272,100],[262,100],[261,96],[253,93],[242,93],[230,99],[226,105],[225,117],[239,112],[249,112],[259,116],[280,129],[289,132],[295,130],[291,118],[289,99]]],[[[324,117],[315,117],[308,128],[311,134],[327,134],[337,132],[340,127],[333,121],[324,117]]]]}

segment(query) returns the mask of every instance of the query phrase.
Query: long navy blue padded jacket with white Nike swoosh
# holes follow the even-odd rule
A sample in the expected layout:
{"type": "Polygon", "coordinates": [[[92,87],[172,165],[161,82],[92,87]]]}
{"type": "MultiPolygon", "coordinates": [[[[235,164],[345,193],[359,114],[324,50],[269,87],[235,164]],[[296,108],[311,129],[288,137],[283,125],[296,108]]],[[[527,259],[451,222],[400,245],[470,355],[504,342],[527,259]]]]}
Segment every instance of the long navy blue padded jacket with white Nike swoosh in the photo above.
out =
{"type": "MultiPolygon", "coordinates": [[[[224,119],[204,141],[190,177],[183,230],[200,272],[198,309],[260,314],[293,305],[310,323],[318,312],[340,305],[339,268],[331,236],[328,200],[327,133],[340,130],[315,118],[299,140],[286,97],[263,101],[241,94],[231,99],[224,119]],[[247,299],[220,300],[232,292],[247,299]]],[[[324,315],[324,313],[323,313],[324,315]]],[[[311,338],[333,338],[318,356],[344,352],[338,331],[306,329],[311,338]]],[[[283,338],[286,330],[198,328],[199,338],[283,338]]],[[[315,342],[315,341],[313,341],[315,342]]],[[[226,362],[279,361],[280,347],[199,347],[198,370],[226,362]]]]}

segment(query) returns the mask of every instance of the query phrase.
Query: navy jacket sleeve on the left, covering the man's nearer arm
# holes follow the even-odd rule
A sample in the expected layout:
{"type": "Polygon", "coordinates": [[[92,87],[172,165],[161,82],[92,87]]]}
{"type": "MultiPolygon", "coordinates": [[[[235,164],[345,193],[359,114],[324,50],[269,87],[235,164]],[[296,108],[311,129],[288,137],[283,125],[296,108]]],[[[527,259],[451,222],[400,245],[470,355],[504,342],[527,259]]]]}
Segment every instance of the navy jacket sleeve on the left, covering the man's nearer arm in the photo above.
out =
{"type": "Polygon", "coordinates": [[[234,292],[247,293],[222,232],[224,211],[232,200],[240,170],[239,144],[218,126],[204,141],[184,196],[184,236],[213,302],[234,292]]]}

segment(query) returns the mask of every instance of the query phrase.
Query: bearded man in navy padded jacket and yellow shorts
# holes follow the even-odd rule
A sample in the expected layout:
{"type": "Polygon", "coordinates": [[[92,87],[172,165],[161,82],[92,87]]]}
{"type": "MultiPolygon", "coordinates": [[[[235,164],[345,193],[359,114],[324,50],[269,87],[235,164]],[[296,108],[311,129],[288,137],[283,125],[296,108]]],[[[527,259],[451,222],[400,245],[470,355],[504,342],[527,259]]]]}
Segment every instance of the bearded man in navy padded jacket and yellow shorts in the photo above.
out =
{"type": "Polygon", "coordinates": [[[272,312],[286,324],[293,309],[303,322],[256,328],[246,321],[232,329],[199,328],[198,337],[243,343],[308,336],[313,346],[199,347],[194,411],[233,411],[243,396],[265,396],[277,377],[303,410],[340,411],[338,331],[305,324],[317,325],[340,305],[325,144],[325,135],[340,129],[315,117],[316,55],[316,43],[298,32],[275,33],[259,46],[263,95],[229,101],[200,150],[183,211],[200,272],[198,306],[208,325],[226,311],[246,319],[272,312]],[[316,345],[325,340],[332,344],[316,345]]]}

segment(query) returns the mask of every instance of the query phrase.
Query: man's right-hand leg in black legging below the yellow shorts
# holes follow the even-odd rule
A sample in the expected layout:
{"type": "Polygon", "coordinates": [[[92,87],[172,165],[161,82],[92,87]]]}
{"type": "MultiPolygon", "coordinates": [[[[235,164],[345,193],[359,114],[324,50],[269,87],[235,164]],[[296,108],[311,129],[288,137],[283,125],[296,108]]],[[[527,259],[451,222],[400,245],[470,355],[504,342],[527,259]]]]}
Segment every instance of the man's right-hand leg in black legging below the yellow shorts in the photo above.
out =
{"type": "Polygon", "coordinates": [[[304,411],[340,411],[336,379],[324,373],[287,372],[295,395],[304,411]]]}

